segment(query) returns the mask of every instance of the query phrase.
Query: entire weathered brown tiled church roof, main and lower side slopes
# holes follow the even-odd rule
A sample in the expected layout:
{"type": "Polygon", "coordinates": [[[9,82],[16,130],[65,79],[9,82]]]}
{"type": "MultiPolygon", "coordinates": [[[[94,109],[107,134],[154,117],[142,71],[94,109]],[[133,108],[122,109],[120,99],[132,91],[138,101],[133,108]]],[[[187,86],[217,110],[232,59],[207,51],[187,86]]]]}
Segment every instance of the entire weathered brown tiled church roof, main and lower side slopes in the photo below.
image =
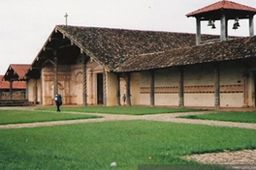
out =
{"type": "MultiPolygon", "coordinates": [[[[204,40],[216,38],[219,36],[203,37],[204,40]]],[[[70,46],[70,42],[75,44],[58,51],[58,62],[69,61],[71,58],[79,61],[81,49],[108,71],[116,72],[238,60],[255,57],[256,54],[256,37],[196,46],[195,34],[58,25],[50,39],[52,41],[47,41],[44,47],[54,47],[57,44],[54,40],[62,46],[70,46]]],[[[53,59],[52,56],[52,51],[41,50],[31,68],[44,67],[48,58],[53,59]]],[[[35,69],[35,72],[40,75],[40,70],[35,69]]]]}

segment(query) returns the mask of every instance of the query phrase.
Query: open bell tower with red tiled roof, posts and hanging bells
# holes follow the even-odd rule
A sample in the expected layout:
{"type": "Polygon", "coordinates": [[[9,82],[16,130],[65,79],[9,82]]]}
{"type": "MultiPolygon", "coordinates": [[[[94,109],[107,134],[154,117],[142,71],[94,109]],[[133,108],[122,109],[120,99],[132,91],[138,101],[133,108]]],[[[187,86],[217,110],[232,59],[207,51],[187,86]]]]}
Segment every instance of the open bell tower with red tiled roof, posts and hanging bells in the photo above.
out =
{"type": "Polygon", "coordinates": [[[214,22],[220,20],[220,41],[228,39],[228,20],[234,19],[233,29],[239,29],[240,19],[249,20],[249,36],[254,36],[253,16],[256,14],[256,9],[241,5],[229,0],[221,0],[211,4],[205,8],[195,12],[186,14],[187,17],[193,16],[197,20],[197,45],[202,42],[201,39],[201,21],[208,21],[208,26],[212,29],[216,28],[214,22]]]}

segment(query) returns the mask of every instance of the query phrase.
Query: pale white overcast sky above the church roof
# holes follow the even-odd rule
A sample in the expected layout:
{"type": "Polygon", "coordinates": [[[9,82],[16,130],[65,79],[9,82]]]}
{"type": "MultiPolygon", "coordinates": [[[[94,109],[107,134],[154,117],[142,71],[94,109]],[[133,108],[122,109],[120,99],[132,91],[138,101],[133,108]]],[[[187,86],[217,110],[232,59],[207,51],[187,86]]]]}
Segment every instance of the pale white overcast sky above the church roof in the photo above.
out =
{"type": "MultiPolygon", "coordinates": [[[[0,0],[0,74],[10,64],[32,64],[55,25],[196,33],[196,19],[185,14],[219,0],[0,0]]],[[[256,0],[232,0],[256,8],[256,0]]],[[[254,28],[256,29],[256,16],[254,28]]],[[[229,35],[248,36],[248,20],[229,35]]],[[[203,34],[219,35],[202,23],[203,34]]],[[[254,30],[256,34],[256,30],[254,30]]]]}

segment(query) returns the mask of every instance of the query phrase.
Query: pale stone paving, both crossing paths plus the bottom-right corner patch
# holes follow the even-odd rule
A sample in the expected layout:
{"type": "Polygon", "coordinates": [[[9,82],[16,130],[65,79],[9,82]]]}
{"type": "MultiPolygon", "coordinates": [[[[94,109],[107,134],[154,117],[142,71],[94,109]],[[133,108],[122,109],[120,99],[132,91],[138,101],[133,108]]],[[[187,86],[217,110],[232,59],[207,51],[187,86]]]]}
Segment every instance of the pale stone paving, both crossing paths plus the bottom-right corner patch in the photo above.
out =
{"type": "MultiPolygon", "coordinates": [[[[6,108],[5,108],[6,109],[6,108]]],[[[13,109],[13,108],[9,108],[13,109]]],[[[17,109],[17,108],[15,108],[17,109]]],[[[31,107],[20,109],[32,109],[31,107]]],[[[1,110],[1,108],[0,108],[1,110]]],[[[65,113],[65,112],[63,112],[65,113]]],[[[89,114],[80,112],[68,112],[74,114],[89,114]]],[[[13,124],[13,125],[2,125],[0,128],[36,128],[36,127],[51,127],[59,125],[70,125],[70,124],[84,124],[84,123],[96,123],[106,121],[126,121],[126,120],[148,120],[148,121],[159,121],[159,122],[172,122],[182,124],[200,124],[206,126],[217,126],[217,127],[231,127],[231,128],[251,128],[256,129],[256,124],[247,123],[232,123],[222,121],[208,121],[208,120],[194,120],[194,119],[183,119],[176,118],[184,115],[195,115],[195,114],[207,114],[211,111],[204,112],[188,112],[188,113],[173,113],[173,114],[156,114],[156,115],[113,115],[113,114],[95,114],[102,118],[96,119],[85,119],[85,120],[71,120],[71,121],[56,121],[56,122],[45,122],[45,123],[30,123],[30,124],[13,124]]],[[[213,164],[232,164],[232,165],[250,165],[247,167],[241,167],[236,169],[256,169],[256,150],[244,150],[239,152],[224,152],[224,153],[210,153],[204,155],[193,155],[183,156],[185,159],[193,159],[195,161],[203,163],[213,164]],[[253,166],[255,165],[255,166],[253,166]]]]}

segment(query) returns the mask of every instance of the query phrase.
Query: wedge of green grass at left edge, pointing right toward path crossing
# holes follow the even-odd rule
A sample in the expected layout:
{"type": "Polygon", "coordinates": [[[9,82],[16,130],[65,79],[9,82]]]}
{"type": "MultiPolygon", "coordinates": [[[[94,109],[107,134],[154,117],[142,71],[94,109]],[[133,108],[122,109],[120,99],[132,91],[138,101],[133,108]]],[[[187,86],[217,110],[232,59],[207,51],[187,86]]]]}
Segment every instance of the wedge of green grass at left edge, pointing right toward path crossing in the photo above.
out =
{"type": "Polygon", "coordinates": [[[48,111],[30,111],[30,110],[0,110],[0,125],[63,121],[76,119],[98,118],[94,115],[67,114],[48,111]]]}

